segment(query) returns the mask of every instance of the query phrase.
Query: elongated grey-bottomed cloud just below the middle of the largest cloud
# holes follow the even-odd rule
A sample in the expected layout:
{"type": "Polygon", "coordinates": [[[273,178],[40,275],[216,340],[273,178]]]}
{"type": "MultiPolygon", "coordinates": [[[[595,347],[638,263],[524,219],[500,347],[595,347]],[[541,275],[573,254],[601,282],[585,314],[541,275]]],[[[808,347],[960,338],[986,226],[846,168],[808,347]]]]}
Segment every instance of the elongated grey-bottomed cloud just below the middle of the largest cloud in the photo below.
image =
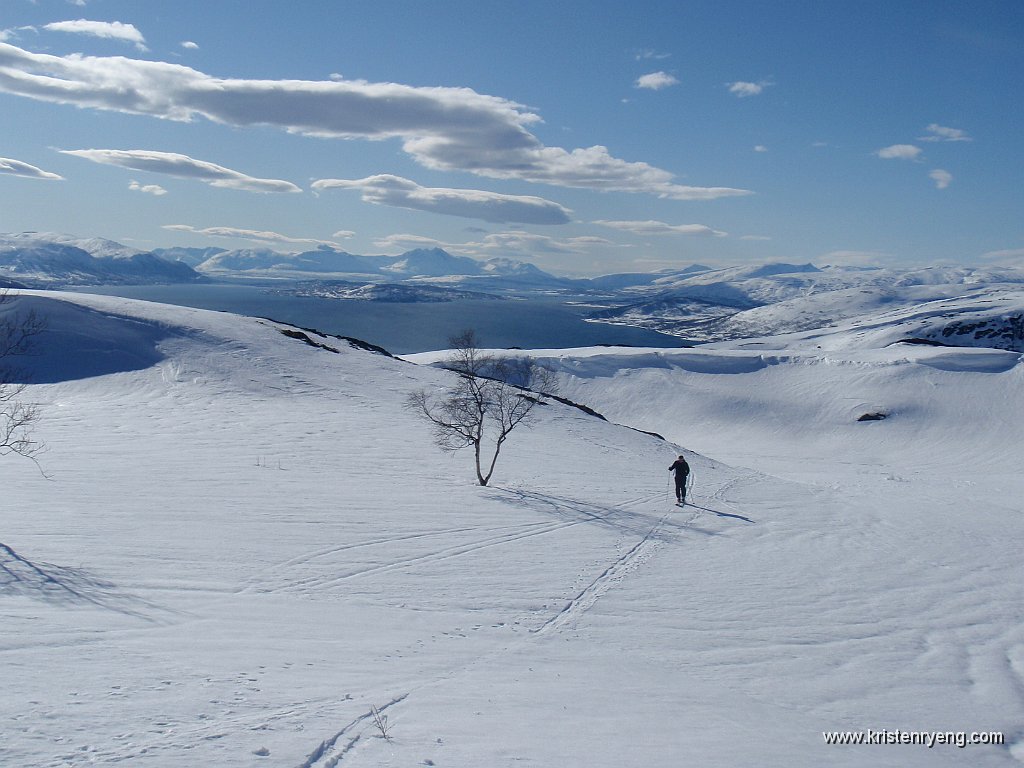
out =
{"type": "Polygon", "coordinates": [[[446,216],[482,219],[496,223],[564,224],[570,211],[543,198],[499,195],[482,189],[420,186],[401,176],[378,174],[361,179],[325,178],[312,183],[314,191],[358,189],[362,200],[377,205],[410,208],[446,216]]]}

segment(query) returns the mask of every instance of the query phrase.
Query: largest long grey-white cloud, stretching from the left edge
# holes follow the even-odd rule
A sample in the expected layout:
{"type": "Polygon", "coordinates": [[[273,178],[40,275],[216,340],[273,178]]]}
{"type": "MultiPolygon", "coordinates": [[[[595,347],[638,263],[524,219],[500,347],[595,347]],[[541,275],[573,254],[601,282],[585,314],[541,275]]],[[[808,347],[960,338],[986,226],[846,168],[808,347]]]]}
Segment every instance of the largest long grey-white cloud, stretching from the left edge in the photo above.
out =
{"type": "Polygon", "coordinates": [[[225,79],[165,61],[54,56],[0,43],[0,91],[182,122],[203,117],[326,138],[397,138],[427,168],[490,178],[675,200],[752,194],[677,184],[671,172],[611,157],[604,146],[546,146],[527,130],[540,116],[470,88],[225,79]]]}

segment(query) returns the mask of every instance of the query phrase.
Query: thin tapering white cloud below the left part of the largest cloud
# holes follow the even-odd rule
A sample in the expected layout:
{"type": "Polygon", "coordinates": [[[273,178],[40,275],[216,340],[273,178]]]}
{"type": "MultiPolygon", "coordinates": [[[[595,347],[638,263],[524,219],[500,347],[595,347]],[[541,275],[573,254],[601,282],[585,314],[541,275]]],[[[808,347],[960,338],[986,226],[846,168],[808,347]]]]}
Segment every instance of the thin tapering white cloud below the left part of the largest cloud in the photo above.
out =
{"type": "Polygon", "coordinates": [[[255,178],[230,168],[195,160],[187,155],[154,150],[61,150],[63,155],[91,160],[93,163],[116,165],[133,171],[165,173],[178,178],[205,181],[212,186],[257,193],[300,193],[291,181],[255,178]]]}

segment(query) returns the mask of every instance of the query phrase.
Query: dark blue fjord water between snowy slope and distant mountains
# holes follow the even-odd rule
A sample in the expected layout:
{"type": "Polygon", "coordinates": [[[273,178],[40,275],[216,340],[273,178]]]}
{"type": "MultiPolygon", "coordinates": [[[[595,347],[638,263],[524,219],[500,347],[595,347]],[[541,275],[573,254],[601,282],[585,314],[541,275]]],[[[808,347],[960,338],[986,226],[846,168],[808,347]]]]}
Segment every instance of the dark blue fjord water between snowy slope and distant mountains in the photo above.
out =
{"type": "Polygon", "coordinates": [[[654,331],[587,323],[584,308],[557,298],[391,303],[294,296],[266,286],[228,284],[74,290],[271,317],[323,333],[352,336],[394,354],[443,349],[450,337],[470,328],[488,347],[687,346],[682,339],[654,331]]]}

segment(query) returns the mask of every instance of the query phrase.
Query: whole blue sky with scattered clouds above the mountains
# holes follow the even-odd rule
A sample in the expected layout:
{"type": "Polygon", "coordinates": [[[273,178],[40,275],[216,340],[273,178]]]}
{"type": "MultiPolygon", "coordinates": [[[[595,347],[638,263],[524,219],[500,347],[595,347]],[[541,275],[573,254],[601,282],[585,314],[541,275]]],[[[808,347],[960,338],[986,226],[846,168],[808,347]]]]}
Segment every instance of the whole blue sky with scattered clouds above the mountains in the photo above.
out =
{"type": "Polygon", "coordinates": [[[0,230],[1024,262],[1024,3],[2,0],[0,230]]]}

